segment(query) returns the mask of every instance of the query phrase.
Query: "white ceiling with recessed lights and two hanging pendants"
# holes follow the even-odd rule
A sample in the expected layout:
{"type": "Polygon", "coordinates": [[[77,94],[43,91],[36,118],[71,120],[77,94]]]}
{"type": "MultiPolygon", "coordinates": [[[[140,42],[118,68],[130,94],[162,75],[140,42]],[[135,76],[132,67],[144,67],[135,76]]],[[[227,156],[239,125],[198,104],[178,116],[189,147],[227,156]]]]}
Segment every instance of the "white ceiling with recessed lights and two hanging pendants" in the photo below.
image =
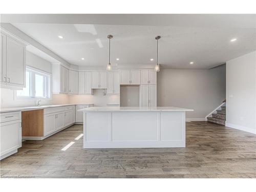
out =
{"type": "MultiPolygon", "coordinates": [[[[145,26],[140,25],[140,22],[137,25],[127,25],[127,20],[124,20],[124,25],[77,24],[81,22],[76,23],[76,20],[73,20],[72,24],[44,24],[33,21],[33,23],[12,23],[12,25],[73,65],[106,66],[108,63],[106,36],[112,34],[113,65],[153,67],[156,62],[155,36],[161,35],[159,63],[162,67],[209,69],[256,50],[255,15],[238,16],[229,16],[230,19],[223,16],[223,20],[219,16],[215,20],[214,17],[200,15],[197,17],[199,22],[194,20],[193,25],[187,22],[184,22],[186,25],[182,25],[184,15],[180,15],[180,25],[174,26],[167,26],[166,19],[164,26],[145,26]],[[252,25],[253,19],[255,25],[252,25]],[[236,25],[230,26],[231,21],[236,25]],[[209,25],[212,23],[214,25],[209,25]],[[58,38],[58,35],[63,36],[63,39],[58,38]],[[237,38],[237,41],[230,42],[232,38],[237,38]],[[117,61],[116,58],[119,60],[117,61]],[[151,61],[151,58],[154,58],[154,61],[151,61]],[[190,61],[193,61],[194,65],[189,65],[190,61]]],[[[152,19],[152,16],[149,17],[152,19]]],[[[175,18],[177,24],[177,15],[175,18]]]]}

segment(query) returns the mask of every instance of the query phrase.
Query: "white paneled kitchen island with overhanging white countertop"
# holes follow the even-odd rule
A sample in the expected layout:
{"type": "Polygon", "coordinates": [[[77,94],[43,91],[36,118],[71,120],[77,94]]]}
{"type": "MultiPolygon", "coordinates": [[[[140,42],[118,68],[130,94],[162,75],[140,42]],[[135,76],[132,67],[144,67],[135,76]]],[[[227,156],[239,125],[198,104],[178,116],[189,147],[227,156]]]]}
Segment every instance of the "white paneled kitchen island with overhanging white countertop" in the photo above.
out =
{"type": "Polygon", "coordinates": [[[83,148],[185,147],[185,113],[176,107],[92,107],[83,112],[83,148]]]}

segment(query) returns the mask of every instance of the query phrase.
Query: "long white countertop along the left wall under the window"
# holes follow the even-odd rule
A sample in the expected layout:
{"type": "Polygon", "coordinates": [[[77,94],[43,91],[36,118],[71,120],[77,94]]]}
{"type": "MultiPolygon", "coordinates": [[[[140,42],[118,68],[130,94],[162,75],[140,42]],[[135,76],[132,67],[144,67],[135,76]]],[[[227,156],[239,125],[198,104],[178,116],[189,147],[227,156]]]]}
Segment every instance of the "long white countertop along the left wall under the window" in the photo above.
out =
{"type": "Polygon", "coordinates": [[[17,108],[0,108],[0,113],[13,112],[13,111],[31,111],[31,110],[40,110],[46,108],[57,108],[60,106],[70,106],[70,105],[92,105],[92,103],[87,104],[49,104],[49,105],[40,105],[40,106],[20,106],[17,108]]]}

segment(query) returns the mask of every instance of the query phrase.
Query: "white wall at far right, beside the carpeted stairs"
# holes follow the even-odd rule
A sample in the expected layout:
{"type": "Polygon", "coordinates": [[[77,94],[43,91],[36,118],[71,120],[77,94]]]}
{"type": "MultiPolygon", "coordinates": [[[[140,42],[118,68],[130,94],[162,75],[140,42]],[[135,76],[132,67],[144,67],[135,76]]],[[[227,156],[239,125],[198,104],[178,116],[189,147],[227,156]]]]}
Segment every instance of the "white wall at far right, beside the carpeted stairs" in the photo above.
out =
{"type": "Polygon", "coordinates": [[[256,134],[256,51],[226,66],[226,126],[256,134]]]}

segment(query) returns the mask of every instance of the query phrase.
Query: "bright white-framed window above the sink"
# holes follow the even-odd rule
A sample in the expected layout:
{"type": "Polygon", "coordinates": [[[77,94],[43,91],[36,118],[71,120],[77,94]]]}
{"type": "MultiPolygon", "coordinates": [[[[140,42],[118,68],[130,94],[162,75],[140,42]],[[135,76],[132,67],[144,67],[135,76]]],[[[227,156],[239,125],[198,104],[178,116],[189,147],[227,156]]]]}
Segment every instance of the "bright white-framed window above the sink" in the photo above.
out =
{"type": "Polygon", "coordinates": [[[17,90],[17,98],[50,98],[50,74],[26,68],[26,88],[17,90]]]}

